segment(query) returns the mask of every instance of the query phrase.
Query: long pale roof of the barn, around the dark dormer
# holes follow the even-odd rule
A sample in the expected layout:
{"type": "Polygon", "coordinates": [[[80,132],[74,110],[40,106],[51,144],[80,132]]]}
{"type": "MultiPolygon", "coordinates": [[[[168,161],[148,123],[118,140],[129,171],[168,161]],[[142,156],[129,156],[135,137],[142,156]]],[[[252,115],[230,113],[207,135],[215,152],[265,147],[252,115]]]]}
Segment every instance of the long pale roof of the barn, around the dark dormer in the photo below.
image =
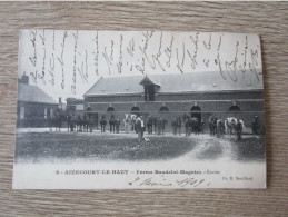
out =
{"type": "MultiPolygon", "coordinates": [[[[192,91],[225,91],[225,90],[261,90],[262,76],[246,72],[237,73],[237,81],[232,81],[228,76],[222,78],[220,72],[195,72],[195,73],[170,73],[170,75],[148,75],[147,77],[160,86],[157,92],[192,92],[192,91]],[[240,75],[240,76],[239,76],[240,75]]],[[[108,77],[100,78],[85,96],[92,95],[121,95],[140,93],[143,87],[140,82],[145,76],[132,77],[108,77]]]]}

